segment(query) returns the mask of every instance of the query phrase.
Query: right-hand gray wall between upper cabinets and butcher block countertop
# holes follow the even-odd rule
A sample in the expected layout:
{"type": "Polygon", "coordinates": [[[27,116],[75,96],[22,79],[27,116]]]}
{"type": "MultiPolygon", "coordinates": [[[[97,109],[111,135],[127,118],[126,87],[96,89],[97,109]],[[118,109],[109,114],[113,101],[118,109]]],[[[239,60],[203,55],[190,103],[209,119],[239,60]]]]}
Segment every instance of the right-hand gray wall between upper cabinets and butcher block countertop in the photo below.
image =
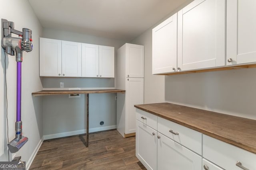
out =
{"type": "Polygon", "coordinates": [[[152,75],[152,28],[182,6],[132,41],[145,46],[145,103],[170,102],[256,119],[256,68],[173,76],[152,75]]]}

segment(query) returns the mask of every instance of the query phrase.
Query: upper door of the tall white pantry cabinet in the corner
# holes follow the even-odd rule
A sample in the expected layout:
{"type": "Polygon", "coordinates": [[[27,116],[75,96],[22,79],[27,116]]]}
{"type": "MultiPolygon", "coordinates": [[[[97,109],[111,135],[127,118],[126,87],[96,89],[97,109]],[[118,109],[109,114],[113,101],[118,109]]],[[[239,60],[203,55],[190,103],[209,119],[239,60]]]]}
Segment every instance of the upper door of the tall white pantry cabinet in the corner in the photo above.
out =
{"type": "Polygon", "coordinates": [[[144,78],[144,46],[126,43],[126,77],[144,78]]]}

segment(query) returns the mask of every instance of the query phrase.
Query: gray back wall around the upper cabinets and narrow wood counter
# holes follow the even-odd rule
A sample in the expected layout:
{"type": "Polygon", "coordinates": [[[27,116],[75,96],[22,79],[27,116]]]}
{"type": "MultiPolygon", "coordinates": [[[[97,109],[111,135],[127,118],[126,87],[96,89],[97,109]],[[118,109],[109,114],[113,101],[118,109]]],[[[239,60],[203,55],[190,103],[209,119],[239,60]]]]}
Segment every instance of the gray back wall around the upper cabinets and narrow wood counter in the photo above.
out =
{"type": "MultiPolygon", "coordinates": [[[[43,29],[42,37],[115,47],[115,63],[117,49],[125,43],[116,39],[107,39],[48,28],[43,29]]],[[[65,88],[115,87],[114,78],[42,77],[41,80],[44,88],[59,88],[60,82],[64,82],[65,88]]],[[[116,94],[90,94],[89,129],[91,132],[115,127],[115,95],[116,94]],[[104,121],[104,125],[100,125],[100,121],[104,121]]],[[[81,95],[80,98],[68,98],[68,95],[44,96],[42,99],[44,135],[48,135],[47,138],[84,133],[84,129],[86,128],[86,119],[84,116],[86,100],[84,95],[81,95]],[[54,134],[59,135],[54,136],[54,134]]]]}

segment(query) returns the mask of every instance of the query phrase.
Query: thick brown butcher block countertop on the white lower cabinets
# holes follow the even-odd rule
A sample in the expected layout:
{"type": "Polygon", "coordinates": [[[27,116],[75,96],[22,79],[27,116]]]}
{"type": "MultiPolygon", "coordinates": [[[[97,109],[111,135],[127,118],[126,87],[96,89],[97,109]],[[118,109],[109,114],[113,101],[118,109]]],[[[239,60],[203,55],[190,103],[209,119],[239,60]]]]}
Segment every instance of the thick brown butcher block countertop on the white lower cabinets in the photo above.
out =
{"type": "Polygon", "coordinates": [[[134,107],[256,153],[256,120],[171,103],[134,107]]]}

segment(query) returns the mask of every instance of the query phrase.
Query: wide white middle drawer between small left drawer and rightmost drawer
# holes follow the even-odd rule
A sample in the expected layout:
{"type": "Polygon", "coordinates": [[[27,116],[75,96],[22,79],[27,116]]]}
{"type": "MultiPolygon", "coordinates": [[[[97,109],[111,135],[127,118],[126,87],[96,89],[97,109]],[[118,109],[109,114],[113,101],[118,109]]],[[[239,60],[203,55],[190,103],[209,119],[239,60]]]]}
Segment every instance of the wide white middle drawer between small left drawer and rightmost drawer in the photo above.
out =
{"type": "Polygon", "coordinates": [[[160,133],[202,155],[202,133],[161,117],[158,117],[157,126],[160,133]]]}

